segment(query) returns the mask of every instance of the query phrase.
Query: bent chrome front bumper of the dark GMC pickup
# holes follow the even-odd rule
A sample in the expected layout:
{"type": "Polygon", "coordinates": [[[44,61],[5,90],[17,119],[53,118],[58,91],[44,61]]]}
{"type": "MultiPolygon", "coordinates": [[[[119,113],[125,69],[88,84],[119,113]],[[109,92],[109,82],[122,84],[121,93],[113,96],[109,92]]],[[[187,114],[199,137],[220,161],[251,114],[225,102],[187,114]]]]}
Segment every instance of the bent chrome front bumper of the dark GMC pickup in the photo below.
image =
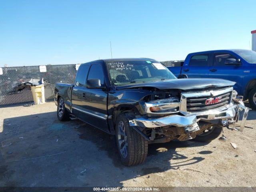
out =
{"type": "Polygon", "coordinates": [[[177,127],[191,127],[198,126],[197,122],[199,120],[221,120],[222,126],[228,126],[234,124],[238,117],[239,111],[244,110],[244,115],[242,118],[241,126],[239,130],[242,132],[245,126],[246,118],[250,108],[244,106],[241,100],[236,100],[231,102],[228,109],[203,112],[201,114],[192,114],[188,116],[181,115],[170,115],[160,118],[150,118],[150,117],[140,117],[130,120],[130,126],[140,126],[146,128],[156,128],[161,126],[177,126],[177,127]]]}

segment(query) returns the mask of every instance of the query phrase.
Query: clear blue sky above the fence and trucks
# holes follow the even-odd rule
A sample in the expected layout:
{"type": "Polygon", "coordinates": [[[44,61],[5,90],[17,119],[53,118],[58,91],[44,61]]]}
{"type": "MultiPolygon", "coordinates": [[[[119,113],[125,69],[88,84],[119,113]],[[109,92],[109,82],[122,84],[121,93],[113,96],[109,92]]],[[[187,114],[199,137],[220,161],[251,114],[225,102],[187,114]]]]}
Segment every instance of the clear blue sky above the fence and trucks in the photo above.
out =
{"type": "Polygon", "coordinates": [[[0,0],[0,67],[249,49],[255,0],[0,0]]]}

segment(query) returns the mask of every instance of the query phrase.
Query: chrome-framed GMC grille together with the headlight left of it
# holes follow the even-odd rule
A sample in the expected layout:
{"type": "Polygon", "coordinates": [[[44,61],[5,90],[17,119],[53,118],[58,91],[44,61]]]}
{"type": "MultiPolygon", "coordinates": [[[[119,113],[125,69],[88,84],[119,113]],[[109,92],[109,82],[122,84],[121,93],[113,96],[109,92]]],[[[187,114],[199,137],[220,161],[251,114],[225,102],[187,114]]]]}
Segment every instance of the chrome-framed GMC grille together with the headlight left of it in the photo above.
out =
{"type": "Polygon", "coordinates": [[[221,90],[182,92],[180,99],[172,97],[145,102],[145,111],[150,115],[165,115],[178,112],[184,115],[209,114],[209,112],[216,110],[227,109],[236,93],[234,92],[232,87],[221,90]]]}

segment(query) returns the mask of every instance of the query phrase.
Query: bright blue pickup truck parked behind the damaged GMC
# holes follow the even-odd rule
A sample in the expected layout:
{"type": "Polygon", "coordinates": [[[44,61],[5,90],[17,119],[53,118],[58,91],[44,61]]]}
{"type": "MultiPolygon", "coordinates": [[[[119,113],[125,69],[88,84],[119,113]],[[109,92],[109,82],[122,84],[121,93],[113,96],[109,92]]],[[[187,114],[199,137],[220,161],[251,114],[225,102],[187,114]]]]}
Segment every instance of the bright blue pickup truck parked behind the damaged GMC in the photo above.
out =
{"type": "Polygon", "coordinates": [[[234,89],[256,110],[256,52],[213,50],[190,53],[180,66],[168,67],[175,75],[188,78],[220,78],[236,82],[234,89]]]}

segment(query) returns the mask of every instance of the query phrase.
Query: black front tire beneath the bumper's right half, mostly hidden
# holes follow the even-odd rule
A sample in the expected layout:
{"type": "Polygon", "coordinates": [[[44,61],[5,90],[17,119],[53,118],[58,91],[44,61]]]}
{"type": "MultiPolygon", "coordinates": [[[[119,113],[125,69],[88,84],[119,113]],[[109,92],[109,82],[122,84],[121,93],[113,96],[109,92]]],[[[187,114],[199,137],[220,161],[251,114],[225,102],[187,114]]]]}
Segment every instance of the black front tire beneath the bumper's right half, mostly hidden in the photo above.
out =
{"type": "Polygon", "coordinates": [[[212,129],[208,130],[207,132],[203,132],[202,134],[197,135],[194,140],[199,142],[211,142],[220,136],[221,132],[222,127],[212,127],[212,129]]]}

